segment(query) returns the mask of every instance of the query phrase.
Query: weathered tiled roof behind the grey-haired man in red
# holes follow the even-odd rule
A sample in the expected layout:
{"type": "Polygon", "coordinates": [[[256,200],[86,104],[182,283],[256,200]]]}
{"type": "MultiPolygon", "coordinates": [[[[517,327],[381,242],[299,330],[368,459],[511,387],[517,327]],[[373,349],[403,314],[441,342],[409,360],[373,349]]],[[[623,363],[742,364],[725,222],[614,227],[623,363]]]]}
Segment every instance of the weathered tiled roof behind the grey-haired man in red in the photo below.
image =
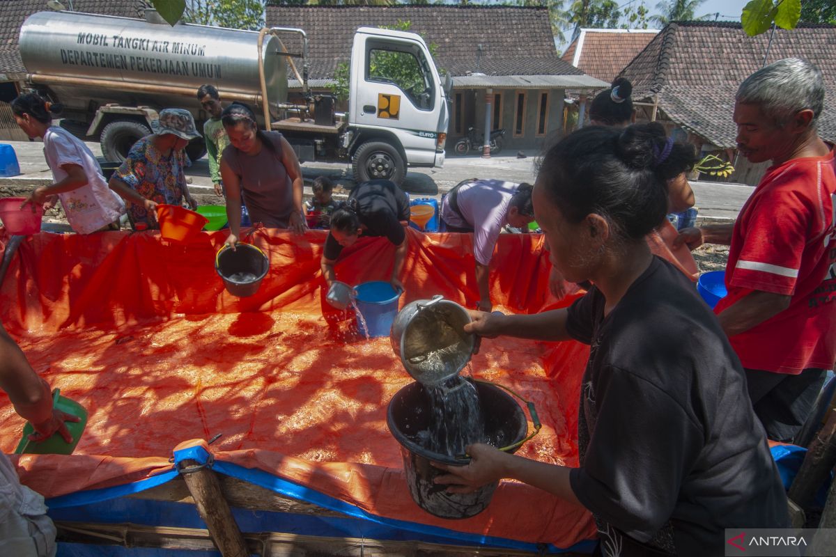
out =
{"type": "MultiPolygon", "coordinates": [[[[654,95],[676,124],[720,147],[735,146],[734,97],[743,79],[762,67],[769,34],[749,37],[740,23],[670,23],[621,73],[633,99],[654,95]]],[[[805,58],[822,70],[827,94],[819,134],[836,141],[836,26],[777,29],[767,63],[805,58]]]]}

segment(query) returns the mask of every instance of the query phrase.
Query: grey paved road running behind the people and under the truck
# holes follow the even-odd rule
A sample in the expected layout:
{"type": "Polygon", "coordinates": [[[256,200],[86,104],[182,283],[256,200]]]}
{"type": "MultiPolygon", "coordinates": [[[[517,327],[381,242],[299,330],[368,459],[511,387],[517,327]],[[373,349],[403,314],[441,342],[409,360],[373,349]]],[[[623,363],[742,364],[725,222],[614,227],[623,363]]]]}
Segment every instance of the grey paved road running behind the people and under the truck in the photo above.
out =
{"type": "MultiPolygon", "coordinates": [[[[39,142],[12,141],[23,175],[14,178],[0,178],[3,185],[38,185],[50,184],[52,175],[43,159],[43,144],[39,142]]],[[[90,149],[97,156],[101,155],[98,143],[89,142],[90,149]]],[[[410,169],[406,174],[405,190],[410,195],[441,197],[461,180],[468,178],[500,178],[512,182],[533,183],[536,167],[536,152],[527,151],[524,159],[516,154],[501,154],[491,159],[479,156],[448,157],[442,169],[410,169]]],[[[327,175],[347,189],[354,186],[351,180],[350,165],[337,163],[305,163],[302,165],[306,180],[313,180],[319,175],[327,175]]],[[[204,157],[198,160],[186,172],[191,178],[191,188],[196,193],[210,193],[212,181],[209,179],[209,165],[204,157]]],[[[696,195],[696,206],[700,216],[712,219],[733,220],[743,203],[752,193],[748,185],[720,184],[715,182],[692,182],[696,195]]],[[[306,188],[306,190],[308,190],[306,188]]],[[[310,191],[308,190],[308,194],[310,191]]]]}

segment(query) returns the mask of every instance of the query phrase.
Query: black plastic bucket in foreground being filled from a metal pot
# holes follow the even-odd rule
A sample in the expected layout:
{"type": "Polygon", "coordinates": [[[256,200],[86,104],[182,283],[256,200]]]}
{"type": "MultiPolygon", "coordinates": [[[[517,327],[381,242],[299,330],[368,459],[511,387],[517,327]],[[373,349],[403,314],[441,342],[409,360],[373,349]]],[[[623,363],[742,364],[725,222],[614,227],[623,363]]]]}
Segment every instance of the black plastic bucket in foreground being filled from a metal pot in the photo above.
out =
{"type": "MultiPolygon", "coordinates": [[[[517,401],[494,385],[482,382],[475,382],[474,385],[479,393],[487,438],[499,447],[522,442],[528,433],[528,422],[517,401]]],[[[430,397],[419,382],[410,383],[396,392],[386,414],[389,430],[400,443],[410,495],[421,509],[441,519],[470,518],[487,508],[499,483],[484,485],[471,494],[447,493],[446,485],[433,483],[433,479],[444,472],[434,468],[431,462],[464,466],[469,459],[434,453],[407,436],[405,432],[417,433],[428,428],[431,414],[430,397]]],[[[509,449],[507,452],[516,450],[509,449]]]]}

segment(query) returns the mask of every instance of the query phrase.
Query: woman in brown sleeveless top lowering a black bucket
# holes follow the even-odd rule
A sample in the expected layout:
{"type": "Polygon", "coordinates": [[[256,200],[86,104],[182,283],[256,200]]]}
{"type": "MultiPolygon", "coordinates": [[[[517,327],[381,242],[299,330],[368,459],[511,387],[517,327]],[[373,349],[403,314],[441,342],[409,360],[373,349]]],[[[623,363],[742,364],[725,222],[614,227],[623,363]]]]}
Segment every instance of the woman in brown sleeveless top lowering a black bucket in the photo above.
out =
{"type": "Polygon", "coordinates": [[[288,140],[278,132],[258,129],[255,114],[245,104],[231,104],[221,119],[230,142],[221,157],[227,244],[235,246],[238,241],[242,200],[252,222],[302,234],[307,229],[302,216],[302,169],[288,140]]]}

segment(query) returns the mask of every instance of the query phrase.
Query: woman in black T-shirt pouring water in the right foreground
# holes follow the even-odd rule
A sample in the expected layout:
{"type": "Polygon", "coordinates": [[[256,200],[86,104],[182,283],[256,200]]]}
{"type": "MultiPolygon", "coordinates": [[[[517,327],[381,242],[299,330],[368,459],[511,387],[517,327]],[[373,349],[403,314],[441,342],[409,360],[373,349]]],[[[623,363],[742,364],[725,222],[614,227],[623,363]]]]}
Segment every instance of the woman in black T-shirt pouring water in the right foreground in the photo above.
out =
{"type": "Polygon", "coordinates": [[[693,284],[653,256],[665,180],[695,160],[660,124],[581,129],[548,150],[534,213],[568,281],[592,281],[566,309],[473,312],[466,330],[589,344],[579,468],[472,445],[436,479],[467,492],[512,478],[589,509],[599,554],[721,555],[726,528],[788,527],[787,499],[752,413],[742,367],[693,284]]]}

